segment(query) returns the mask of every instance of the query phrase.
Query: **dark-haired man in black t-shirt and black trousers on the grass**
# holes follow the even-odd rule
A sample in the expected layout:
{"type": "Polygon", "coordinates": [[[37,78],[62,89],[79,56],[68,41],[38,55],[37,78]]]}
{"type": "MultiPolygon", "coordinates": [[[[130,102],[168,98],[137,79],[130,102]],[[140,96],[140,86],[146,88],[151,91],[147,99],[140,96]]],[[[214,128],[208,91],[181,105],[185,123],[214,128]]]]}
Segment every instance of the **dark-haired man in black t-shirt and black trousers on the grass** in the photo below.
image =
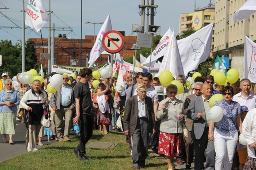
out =
{"type": "Polygon", "coordinates": [[[80,126],[80,142],[76,148],[74,148],[74,153],[77,158],[82,161],[87,161],[85,144],[91,139],[94,130],[94,115],[91,112],[96,112],[92,99],[91,91],[88,84],[92,77],[92,70],[89,68],[83,68],[80,71],[81,80],[74,87],[75,93],[75,104],[76,104],[76,116],[73,120],[74,123],[78,123],[79,118],[81,121],[80,126]]]}

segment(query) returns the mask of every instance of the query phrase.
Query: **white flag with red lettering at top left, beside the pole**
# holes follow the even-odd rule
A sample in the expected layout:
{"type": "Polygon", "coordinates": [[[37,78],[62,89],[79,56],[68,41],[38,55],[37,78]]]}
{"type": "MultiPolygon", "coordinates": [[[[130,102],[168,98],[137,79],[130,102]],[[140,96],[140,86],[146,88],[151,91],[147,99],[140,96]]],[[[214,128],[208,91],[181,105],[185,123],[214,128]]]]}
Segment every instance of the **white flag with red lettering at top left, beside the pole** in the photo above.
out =
{"type": "Polygon", "coordinates": [[[38,32],[49,21],[49,17],[44,9],[41,0],[29,0],[26,10],[25,24],[35,28],[38,32]]]}

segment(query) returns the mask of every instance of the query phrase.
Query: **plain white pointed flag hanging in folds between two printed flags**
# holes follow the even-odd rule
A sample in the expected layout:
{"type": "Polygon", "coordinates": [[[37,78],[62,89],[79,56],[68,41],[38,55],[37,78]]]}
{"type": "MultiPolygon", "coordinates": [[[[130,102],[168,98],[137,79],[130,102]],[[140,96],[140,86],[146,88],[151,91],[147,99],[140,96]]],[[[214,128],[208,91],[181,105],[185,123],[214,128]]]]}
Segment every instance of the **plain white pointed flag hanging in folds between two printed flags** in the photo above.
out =
{"type": "Polygon", "coordinates": [[[159,74],[163,70],[169,70],[174,78],[176,78],[180,74],[184,75],[180,52],[174,31],[172,32],[170,42],[163,56],[159,69],[159,74]]]}

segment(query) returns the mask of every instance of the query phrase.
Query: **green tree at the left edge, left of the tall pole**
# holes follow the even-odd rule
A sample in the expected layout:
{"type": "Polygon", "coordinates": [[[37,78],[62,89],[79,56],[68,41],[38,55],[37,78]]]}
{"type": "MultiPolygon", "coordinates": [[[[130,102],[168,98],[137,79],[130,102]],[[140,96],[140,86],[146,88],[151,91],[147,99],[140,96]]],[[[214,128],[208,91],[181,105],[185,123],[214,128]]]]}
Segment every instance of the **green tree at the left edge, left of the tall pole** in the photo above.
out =
{"type": "Polygon", "coordinates": [[[12,77],[21,72],[21,48],[19,44],[12,45],[11,40],[1,40],[0,55],[2,55],[0,74],[8,72],[8,75],[12,77]]]}

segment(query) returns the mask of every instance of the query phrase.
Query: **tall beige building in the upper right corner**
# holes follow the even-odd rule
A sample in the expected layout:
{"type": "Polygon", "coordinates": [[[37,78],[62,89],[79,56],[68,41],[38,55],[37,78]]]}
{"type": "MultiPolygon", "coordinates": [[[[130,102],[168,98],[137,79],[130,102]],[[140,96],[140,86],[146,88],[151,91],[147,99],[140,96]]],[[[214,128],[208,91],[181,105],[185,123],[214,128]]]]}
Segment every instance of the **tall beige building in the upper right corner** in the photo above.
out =
{"type": "Polygon", "coordinates": [[[255,14],[234,24],[235,12],[246,0],[216,0],[214,55],[229,57],[229,66],[244,72],[244,37],[256,40],[255,14]]]}

